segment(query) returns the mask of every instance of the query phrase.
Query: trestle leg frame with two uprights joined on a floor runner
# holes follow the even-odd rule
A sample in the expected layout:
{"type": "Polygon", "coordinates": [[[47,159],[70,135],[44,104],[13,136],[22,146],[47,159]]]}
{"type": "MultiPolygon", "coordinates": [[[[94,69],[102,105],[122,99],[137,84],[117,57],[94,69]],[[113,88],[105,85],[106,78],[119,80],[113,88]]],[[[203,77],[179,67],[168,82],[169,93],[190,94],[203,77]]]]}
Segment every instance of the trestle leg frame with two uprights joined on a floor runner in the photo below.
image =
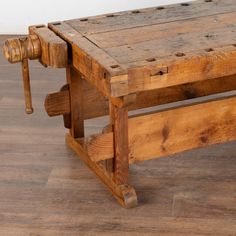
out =
{"type": "Polygon", "coordinates": [[[70,87],[71,129],[66,135],[67,145],[107,186],[110,192],[125,208],[137,205],[135,190],[128,185],[128,112],[127,108],[110,105],[111,124],[114,129],[115,157],[102,164],[91,160],[80,139],[84,137],[83,80],[73,67],[67,68],[67,82],[70,87]]]}

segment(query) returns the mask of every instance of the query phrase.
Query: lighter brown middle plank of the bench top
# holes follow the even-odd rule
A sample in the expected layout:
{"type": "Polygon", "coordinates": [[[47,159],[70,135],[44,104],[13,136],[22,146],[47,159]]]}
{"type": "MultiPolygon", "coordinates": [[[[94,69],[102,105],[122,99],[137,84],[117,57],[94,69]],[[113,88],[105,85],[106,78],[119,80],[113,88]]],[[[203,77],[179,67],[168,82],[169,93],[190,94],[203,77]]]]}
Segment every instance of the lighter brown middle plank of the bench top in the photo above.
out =
{"type": "MultiPolygon", "coordinates": [[[[173,37],[174,41],[176,41],[176,36],[178,36],[179,39],[181,38],[182,40],[184,40],[183,37],[186,37],[186,35],[190,35],[192,37],[190,39],[186,39],[186,41],[194,40],[195,43],[198,43],[196,37],[199,35],[199,33],[204,34],[205,32],[205,35],[214,34],[214,32],[211,33],[213,29],[217,31],[226,30],[230,32],[230,29],[233,29],[235,23],[236,11],[219,15],[199,17],[191,20],[188,19],[181,21],[171,21],[165,24],[152,24],[124,30],[112,30],[104,33],[86,35],[86,38],[94,42],[98,47],[105,49],[113,49],[117,47],[119,49],[122,49],[120,46],[129,45],[130,50],[128,50],[128,52],[136,53],[135,50],[137,50],[138,48],[137,46],[135,47],[135,45],[140,44],[142,42],[148,43],[151,40],[165,40],[165,44],[161,45],[163,47],[166,46],[166,44],[169,44],[170,41],[173,41],[173,37]]],[[[219,44],[218,40],[214,40],[212,41],[212,43],[219,44]]],[[[227,44],[227,42],[223,44],[227,44]]],[[[154,44],[153,46],[158,45],[154,44]]],[[[187,46],[189,47],[189,44],[187,44],[187,46]]],[[[151,50],[153,50],[153,47],[150,49],[149,53],[152,52],[151,50]]]]}

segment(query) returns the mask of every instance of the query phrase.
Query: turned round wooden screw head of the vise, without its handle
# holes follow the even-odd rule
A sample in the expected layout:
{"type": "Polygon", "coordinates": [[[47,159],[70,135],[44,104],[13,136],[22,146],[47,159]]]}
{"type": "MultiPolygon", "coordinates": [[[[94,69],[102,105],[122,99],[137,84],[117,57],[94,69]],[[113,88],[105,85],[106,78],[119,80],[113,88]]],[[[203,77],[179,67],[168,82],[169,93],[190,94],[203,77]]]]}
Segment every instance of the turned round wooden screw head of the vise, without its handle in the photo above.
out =
{"type": "Polygon", "coordinates": [[[41,44],[37,35],[6,40],[3,55],[10,63],[21,62],[24,59],[37,59],[41,56],[41,44]]]}

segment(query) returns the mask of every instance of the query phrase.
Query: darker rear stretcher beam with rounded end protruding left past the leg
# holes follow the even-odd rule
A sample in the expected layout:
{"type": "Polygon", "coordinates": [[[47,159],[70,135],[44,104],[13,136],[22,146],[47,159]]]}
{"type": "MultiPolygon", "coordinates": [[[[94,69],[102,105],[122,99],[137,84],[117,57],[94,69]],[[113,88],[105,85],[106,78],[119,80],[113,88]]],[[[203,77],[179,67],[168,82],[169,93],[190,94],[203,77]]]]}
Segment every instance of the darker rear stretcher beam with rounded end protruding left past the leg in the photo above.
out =
{"type": "MultiPolygon", "coordinates": [[[[108,99],[97,89],[83,80],[84,119],[91,119],[109,114],[108,99]]],[[[152,91],[139,92],[135,102],[128,105],[129,111],[177,102],[211,94],[236,90],[236,75],[183,84],[152,91]]],[[[67,91],[49,94],[45,100],[45,109],[49,116],[70,113],[69,88],[67,91]]]]}

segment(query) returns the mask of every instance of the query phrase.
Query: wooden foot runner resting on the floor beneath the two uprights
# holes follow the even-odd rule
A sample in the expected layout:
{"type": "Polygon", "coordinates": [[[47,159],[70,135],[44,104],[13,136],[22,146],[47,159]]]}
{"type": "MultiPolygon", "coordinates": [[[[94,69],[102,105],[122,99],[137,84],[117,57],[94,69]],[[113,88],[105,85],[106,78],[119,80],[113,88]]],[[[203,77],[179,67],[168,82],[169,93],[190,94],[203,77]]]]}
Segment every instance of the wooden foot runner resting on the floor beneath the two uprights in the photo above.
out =
{"type": "Polygon", "coordinates": [[[106,173],[105,169],[98,163],[92,161],[79,140],[74,139],[70,134],[66,134],[66,144],[80,157],[80,159],[97,175],[106,185],[108,190],[124,208],[137,206],[137,195],[130,185],[117,185],[106,173]]]}

